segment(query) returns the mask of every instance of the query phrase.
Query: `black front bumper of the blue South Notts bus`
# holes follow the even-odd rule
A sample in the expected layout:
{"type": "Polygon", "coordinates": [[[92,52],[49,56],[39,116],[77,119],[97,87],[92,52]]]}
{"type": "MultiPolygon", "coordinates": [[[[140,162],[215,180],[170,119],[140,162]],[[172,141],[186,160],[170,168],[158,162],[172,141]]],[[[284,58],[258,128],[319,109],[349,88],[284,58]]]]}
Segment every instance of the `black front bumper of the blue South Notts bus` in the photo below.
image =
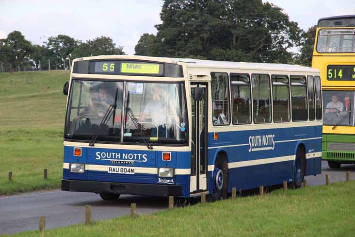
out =
{"type": "Polygon", "coordinates": [[[182,188],[179,185],[130,184],[63,179],[62,190],[74,192],[178,197],[181,196],[182,188]]]}

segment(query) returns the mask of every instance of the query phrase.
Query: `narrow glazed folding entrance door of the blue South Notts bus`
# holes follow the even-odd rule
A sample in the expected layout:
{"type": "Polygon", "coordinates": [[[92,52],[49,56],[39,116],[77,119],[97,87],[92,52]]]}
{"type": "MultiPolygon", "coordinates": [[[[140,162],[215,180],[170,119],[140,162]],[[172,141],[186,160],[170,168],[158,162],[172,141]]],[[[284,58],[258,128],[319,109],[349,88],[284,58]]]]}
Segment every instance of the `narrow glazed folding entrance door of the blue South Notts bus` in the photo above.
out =
{"type": "MultiPolygon", "coordinates": [[[[197,90],[196,90],[197,91],[197,90]]],[[[207,121],[206,121],[206,84],[191,85],[191,178],[190,192],[200,192],[207,189],[207,121]],[[201,100],[194,100],[195,88],[200,87],[201,100]]]]}

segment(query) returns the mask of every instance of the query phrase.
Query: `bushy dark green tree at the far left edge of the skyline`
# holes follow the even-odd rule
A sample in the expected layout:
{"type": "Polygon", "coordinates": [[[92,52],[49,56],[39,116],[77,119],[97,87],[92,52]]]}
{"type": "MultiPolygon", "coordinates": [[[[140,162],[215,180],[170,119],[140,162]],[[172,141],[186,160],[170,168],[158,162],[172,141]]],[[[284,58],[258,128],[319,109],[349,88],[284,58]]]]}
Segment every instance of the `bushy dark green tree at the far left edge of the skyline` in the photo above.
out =
{"type": "Polygon", "coordinates": [[[27,65],[32,53],[32,44],[19,31],[13,31],[0,40],[1,60],[10,64],[10,70],[27,65]],[[14,67],[14,68],[12,68],[14,67]]]}

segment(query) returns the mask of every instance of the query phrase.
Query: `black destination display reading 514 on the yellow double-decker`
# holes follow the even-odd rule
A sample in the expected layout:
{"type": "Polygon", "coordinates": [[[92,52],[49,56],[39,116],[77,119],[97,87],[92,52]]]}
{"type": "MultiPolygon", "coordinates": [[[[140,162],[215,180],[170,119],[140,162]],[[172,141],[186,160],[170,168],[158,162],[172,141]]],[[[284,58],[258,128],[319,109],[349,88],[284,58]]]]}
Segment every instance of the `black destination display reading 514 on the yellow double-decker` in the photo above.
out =
{"type": "Polygon", "coordinates": [[[328,65],[329,81],[355,81],[355,65],[328,65]]]}

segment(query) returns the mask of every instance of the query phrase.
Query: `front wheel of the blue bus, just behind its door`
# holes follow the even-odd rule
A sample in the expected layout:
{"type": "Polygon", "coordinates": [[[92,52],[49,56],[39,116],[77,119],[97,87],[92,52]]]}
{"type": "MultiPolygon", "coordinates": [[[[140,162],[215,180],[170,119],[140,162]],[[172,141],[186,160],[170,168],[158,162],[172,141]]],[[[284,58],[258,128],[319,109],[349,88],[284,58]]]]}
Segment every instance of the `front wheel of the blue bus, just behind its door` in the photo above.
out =
{"type": "Polygon", "coordinates": [[[213,194],[212,201],[226,199],[228,187],[228,167],[226,160],[218,156],[213,171],[213,194]]]}

